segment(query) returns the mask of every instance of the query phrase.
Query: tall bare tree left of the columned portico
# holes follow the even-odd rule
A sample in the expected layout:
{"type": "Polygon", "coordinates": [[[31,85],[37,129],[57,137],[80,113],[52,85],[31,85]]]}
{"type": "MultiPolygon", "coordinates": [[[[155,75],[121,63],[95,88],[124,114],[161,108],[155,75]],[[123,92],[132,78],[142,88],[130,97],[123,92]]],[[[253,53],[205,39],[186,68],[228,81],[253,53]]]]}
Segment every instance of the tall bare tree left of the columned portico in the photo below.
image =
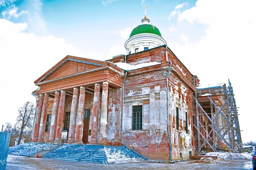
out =
{"type": "Polygon", "coordinates": [[[23,107],[19,107],[19,115],[16,119],[15,126],[20,132],[20,138],[18,140],[18,145],[20,144],[22,134],[26,131],[31,131],[33,128],[33,120],[35,115],[34,104],[30,101],[26,102],[23,107]]]}

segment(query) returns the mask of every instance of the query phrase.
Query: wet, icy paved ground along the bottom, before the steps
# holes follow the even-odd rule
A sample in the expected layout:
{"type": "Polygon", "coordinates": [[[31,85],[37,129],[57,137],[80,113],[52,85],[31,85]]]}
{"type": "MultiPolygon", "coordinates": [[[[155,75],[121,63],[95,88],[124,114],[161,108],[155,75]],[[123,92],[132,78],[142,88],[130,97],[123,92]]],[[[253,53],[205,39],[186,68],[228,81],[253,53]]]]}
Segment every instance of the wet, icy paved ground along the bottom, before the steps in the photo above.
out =
{"type": "Polygon", "coordinates": [[[179,162],[174,164],[162,164],[162,163],[128,163],[128,164],[117,164],[117,165],[103,165],[103,164],[93,164],[75,161],[64,161],[56,159],[44,159],[44,158],[28,158],[23,156],[8,155],[7,159],[7,170],[76,170],[76,169],[179,169],[179,170],[189,170],[189,169],[206,169],[206,170],[234,170],[234,169],[252,169],[251,160],[221,160],[215,164],[205,164],[205,163],[191,163],[189,161],[179,162]]]}

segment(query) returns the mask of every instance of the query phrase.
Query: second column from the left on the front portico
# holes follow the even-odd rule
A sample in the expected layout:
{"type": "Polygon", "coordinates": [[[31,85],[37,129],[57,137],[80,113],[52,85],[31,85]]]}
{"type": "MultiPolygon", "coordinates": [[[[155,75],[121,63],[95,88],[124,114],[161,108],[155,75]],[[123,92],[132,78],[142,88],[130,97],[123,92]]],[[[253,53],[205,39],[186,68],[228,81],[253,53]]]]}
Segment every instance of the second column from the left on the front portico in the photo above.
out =
{"type": "Polygon", "coordinates": [[[44,142],[44,132],[45,132],[45,126],[46,126],[48,99],[49,99],[49,94],[45,93],[44,94],[44,103],[43,103],[43,108],[42,108],[42,115],[41,115],[41,120],[40,120],[38,142],[44,142]]]}

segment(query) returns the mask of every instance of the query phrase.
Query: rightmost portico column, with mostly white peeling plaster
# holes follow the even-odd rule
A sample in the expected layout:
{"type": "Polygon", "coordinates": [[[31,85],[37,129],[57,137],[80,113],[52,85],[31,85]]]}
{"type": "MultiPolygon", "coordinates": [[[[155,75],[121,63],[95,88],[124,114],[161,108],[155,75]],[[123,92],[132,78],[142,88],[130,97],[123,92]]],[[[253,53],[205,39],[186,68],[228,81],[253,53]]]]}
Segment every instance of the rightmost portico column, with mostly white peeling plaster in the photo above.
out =
{"type": "Polygon", "coordinates": [[[107,144],[108,82],[103,82],[99,144],[107,144]]]}

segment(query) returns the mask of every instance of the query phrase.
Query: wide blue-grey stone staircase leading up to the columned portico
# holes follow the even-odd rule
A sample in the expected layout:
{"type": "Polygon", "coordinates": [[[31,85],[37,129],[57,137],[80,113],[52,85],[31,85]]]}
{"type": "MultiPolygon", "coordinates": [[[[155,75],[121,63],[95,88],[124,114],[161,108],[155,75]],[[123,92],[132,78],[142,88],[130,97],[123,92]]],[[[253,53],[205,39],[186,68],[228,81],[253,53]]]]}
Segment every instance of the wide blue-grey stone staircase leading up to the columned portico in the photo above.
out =
{"type": "MultiPolygon", "coordinates": [[[[17,154],[22,152],[21,156],[36,157],[36,151],[42,146],[39,144],[27,143],[20,144],[9,148],[9,154],[17,154]],[[38,146],[38,147],[36,147],[38,146]],[[28,150],[34,148],[28,153],[28,150]]],[[[119,164],[141,162],[144,159],[136,153],[126,150],[124,146],[106,146],[106,145],[85,145],[85,144],[64,144],[52,145],[52,151],[49,146],[44,148],[42,158],[72,160],[100,164],[119,164]]]]}

